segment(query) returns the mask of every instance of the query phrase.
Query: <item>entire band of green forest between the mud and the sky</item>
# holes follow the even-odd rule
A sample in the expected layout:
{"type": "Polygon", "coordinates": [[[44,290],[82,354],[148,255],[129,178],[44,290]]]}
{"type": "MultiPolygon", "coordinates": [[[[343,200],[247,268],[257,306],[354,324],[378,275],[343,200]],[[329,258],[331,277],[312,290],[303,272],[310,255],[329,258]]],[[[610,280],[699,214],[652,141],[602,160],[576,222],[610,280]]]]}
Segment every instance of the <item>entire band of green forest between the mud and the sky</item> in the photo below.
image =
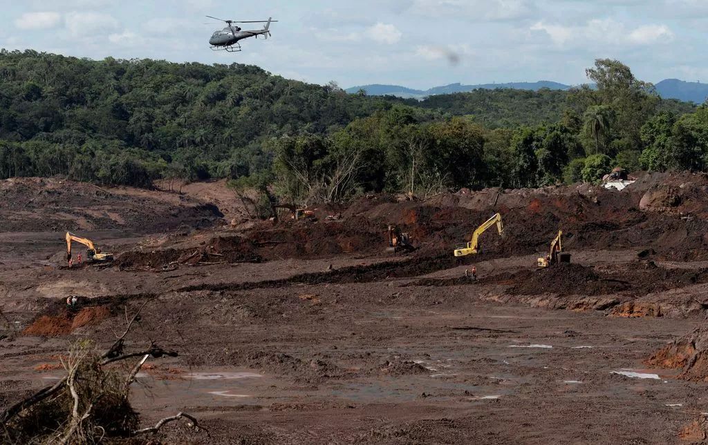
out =
{"type": "MultiPolygon", "coordinates": [[[[348,95],[255,66],[0,52],[0,177],[232,179],[301,202],[708,169],[708,108],[598,60],[598,89],[348,95]]],[[[272,197],[271,197],[272,198],[272,197]]]]}

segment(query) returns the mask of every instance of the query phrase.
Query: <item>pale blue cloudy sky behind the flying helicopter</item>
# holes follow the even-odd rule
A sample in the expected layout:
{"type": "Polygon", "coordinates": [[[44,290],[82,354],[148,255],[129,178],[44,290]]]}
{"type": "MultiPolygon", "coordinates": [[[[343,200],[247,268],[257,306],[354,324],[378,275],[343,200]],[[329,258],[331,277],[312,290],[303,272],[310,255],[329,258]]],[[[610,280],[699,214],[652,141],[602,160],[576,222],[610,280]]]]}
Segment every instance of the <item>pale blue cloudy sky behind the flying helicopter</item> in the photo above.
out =
{"type": "Polygon", "coordinates": [[[9,50],[239,62],[343,88],[576,85],[598,58],[618,59],[644,81],[708,81],[708,0],[0,0],[0,7],[0,47],[9,50]],[[245,40],[243,52],[229,54],[210,50],[222,25],[207,15],[279,22],[269,40],[245,40]]]}

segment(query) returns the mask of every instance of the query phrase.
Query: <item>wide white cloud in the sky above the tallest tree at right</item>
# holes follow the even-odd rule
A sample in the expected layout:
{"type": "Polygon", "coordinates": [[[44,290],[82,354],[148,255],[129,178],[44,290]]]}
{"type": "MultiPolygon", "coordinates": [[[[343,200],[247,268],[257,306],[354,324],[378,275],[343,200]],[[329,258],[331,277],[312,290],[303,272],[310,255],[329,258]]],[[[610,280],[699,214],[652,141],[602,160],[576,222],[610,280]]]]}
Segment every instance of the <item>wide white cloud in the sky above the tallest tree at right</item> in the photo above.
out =
{"type": "Polygon", "coordinates": [[[653,45],[673,40],[673,32],[666,25],[641,25],[628,29],[623,23],[612,19],[593,19],[585,25],[553,25],[538,22],[531,26],[532,32],[544,32],[559,47],[580,45],[653,45]]]}

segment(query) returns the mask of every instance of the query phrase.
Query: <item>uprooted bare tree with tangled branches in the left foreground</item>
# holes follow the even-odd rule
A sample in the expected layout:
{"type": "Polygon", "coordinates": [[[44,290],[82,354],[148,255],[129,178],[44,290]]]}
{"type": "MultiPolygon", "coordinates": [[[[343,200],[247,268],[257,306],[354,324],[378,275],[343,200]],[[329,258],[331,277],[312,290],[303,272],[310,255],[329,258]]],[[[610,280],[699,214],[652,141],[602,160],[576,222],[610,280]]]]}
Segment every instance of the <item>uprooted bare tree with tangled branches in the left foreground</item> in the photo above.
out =
{"type": "Polygon", "coordinates": [[[91,340],[74,343],[68,357],[62,359],[67,372],[62,379],[0,413],[0,441],[93,444],[113,435],[136,437],[159,432],[179,419],[200,429],[197,420],[185,413],[166,417],[154,427],[138,428],[138,415],[129,401],[130,385],[150,357],[178,355],[154,342],[135,352],[125,350],[125,338],[139,321],[145,304],[132,317],[126,310],[125,331],[105,352],[96,352],[91,340]],[[132,362],[127,376],[109,366],[118,362],[132,362]]]}

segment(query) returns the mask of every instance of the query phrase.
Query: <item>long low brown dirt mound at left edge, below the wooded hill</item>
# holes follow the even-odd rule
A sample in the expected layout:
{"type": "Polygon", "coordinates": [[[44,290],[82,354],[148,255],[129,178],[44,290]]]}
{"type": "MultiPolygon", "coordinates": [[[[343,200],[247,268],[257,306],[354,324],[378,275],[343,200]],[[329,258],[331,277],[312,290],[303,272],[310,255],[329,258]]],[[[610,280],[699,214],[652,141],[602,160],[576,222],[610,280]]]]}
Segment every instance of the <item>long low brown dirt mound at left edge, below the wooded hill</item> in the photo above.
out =
{"type": "Polygon", "coordinates": [[[219,209],[178,194],[104,188],[54,178],[0,181],[2,232],[123,230],[138,234],[212,227],[219,209]]]}

